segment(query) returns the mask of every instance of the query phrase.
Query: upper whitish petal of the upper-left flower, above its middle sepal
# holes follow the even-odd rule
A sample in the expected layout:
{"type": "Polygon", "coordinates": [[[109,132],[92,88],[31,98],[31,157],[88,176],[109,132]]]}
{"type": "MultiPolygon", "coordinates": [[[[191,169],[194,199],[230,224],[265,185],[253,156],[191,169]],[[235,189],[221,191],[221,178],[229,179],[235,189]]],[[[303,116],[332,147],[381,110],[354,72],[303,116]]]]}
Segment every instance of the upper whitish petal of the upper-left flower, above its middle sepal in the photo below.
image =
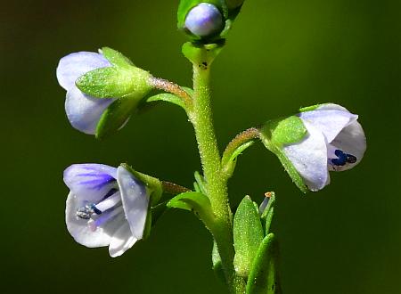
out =
{"type": "Polygon", "coordinates": [[[111,66],[102,54],[93,52],[70,53],[61,58],[57,67],[57,79],[60,86],[70,91],[75,81],[88,71],[111,66]]]}

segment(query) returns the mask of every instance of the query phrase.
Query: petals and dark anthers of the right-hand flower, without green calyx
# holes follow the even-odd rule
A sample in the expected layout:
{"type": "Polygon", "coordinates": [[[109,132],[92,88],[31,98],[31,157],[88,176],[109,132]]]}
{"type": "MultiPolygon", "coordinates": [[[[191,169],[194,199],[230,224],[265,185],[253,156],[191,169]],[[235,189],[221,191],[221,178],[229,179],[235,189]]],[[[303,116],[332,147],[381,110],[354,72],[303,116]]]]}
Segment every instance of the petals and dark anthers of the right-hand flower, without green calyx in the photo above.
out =
{"type": "Polygon", "coordinates": [[[355,167],[364,157],[366,138],[357,115],[327,103],[299,113],[307,135],[283,151],[311,191],[330,184],[330,171],[355,167]]]}

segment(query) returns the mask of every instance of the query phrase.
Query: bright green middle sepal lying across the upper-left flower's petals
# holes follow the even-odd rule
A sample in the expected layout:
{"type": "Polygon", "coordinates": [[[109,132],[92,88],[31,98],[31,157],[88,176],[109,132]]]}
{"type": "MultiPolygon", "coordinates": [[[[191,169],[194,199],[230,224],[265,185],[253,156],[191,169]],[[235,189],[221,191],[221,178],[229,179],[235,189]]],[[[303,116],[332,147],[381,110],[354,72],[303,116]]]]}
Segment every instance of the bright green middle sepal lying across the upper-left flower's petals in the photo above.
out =
{"type": "Polygon", "coordinates": [[[133,66],[128,69],[106,67],[86,72],[76,80],[78,89],[94,98],[120,98],[128,94],[146,94],[151,74],[133,66]]]}

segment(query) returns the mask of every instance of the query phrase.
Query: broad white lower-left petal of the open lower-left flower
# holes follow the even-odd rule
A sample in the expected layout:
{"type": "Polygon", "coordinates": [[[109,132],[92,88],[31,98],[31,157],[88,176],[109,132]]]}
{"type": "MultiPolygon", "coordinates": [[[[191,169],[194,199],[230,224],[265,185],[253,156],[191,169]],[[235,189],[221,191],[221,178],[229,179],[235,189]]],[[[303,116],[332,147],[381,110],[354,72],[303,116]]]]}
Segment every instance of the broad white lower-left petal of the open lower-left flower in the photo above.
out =
{"type": "Polygon", "coordinates": [[[108,246],[111,236],[119,229],[124,222],[124,214],[120,214],[109,222],[105,222],[96,230],[91,229],[88,220],[77,217],[77,209],[82,207],[84,202],[79,200],[73,192],[70,192],[66,201],[65,222],[71,236],[79,244],[89,248],[108,246]]]}

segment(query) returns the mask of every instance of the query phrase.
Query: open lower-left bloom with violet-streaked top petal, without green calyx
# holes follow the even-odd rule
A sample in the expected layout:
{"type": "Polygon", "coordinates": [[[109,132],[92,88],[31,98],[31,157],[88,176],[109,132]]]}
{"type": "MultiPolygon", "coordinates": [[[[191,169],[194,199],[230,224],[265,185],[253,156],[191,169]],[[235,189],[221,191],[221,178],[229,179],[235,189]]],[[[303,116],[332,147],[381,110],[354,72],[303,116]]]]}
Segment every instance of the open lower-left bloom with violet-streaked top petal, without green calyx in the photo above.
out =
{"type": "Polygon", "coordinates": [[[143,238],[150,196],[125,167],[75,164],[64,171],[64,183],[70,188],[66,224],[75,241],[109,246],[110,257],[118,257],[143,238]]]}

